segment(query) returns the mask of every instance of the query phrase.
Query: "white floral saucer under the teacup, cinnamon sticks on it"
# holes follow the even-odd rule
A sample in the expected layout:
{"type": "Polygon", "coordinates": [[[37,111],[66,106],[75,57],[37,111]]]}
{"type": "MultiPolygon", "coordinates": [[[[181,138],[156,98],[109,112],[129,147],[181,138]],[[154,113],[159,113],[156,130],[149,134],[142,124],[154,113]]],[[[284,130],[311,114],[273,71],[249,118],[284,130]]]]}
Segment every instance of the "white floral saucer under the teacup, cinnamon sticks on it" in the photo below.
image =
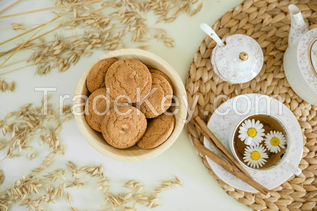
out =
{"type": "MultiPolygon", "coordinates": [[[[227,108],[230,109],[230,112],[227,115],[221,116],[216,113],[216,111],[211,115],[208,121],[208,128],[210,131],[219,139],[219,141],[226,147],[230,153],[229,147],[229,131],[232,127],[235,127],[239,121],[248,114],[255,113],[255,97],[256,95],[261,96],[262,94],[245,94],[249,99],[249,107],[251,108],[248,113],[244,113],[241,115],[239,112],[247,112],[248,102],[246,99],[238,99],[236,102],[236,111],[234,111],[235,106],[232,106],[232,102],[234,98],[231,98],[230,101],[224,102],[221,104],[217,110],[219,112],[225,112],[227,108]],[[238,113],[238,114],[236,114],[238,113]]],[[[239,95],[240,96],[240,95],[239,95]]],[[[236,98],[236,97],[235,97],[236,98]]],[[[260,99],[259,101],[259,112],[267,112],[266,99],[260,99]]],[[[290,131],[291,139],[292,139],[292,148],[289,153],[288,159],[294,163],[296,166],[299,165],[301,161],[301,157],[303,154],[303,135],[301,132],[301,126],[299,125],[296,117],[293,112],[288,109],[288,107],[282,104],[282,115],[279,115],[278,111],[279,101],[277,99],[271,100],[270,113],[280,118],[283,122],[286,123],[288,129],[290,131]]],[[[220,153],[210,144],[210,142],[204,137],[204,145],[209,150],[216,153],[218,156],[222,157],[220,153]]],[[[259,192],[253,187],[249,186],[247,183],[238,179],[236,176],[233,176],[229,172],[225,171],[221,168],[217,163],[212,161],[210,158],[206,157],[211,169],[214,173],[225,183],[232,186],[235,189],[239,189],[246,192],[259,192]]],[[[245,167],[243,167],[245,168],[245,167]]],[[[283,182],[286,182],[289,177],[293,175],[291,171],[284,168],[281,165],[279,168],[267,171],[267,172],[256,172],[250,169],[245,168],[250,175],[254,178],[256,182],[259,182],[264,187],[268,189],[274,189],[277,186],[281,185],[283,182]]]]}

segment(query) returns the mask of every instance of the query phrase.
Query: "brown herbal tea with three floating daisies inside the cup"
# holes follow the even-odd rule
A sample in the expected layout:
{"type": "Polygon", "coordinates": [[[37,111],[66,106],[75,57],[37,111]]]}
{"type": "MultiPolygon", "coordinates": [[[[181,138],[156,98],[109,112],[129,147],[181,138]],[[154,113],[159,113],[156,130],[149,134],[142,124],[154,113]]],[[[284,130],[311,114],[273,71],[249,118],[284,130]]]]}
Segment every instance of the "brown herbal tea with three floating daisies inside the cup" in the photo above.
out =
{"type": "Polygon", "coordinates": [[[245,119],[234,134],[238,158],[251,168],[266,169],[284,156],[287,140],[283,127],[266,115],[245,119]]]}

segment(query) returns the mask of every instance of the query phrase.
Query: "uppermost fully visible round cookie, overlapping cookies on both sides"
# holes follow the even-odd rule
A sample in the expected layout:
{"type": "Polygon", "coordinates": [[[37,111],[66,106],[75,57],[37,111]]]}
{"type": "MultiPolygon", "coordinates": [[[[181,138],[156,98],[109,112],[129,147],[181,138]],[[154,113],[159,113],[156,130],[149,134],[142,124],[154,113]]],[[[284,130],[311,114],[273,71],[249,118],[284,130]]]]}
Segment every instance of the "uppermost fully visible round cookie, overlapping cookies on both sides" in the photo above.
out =
{"type": "MultiPolygon", "coordinates": [[[[137,101],[136,88],[141,91],[141,99],[151,90],[152,78],[149,69],[140,61],[125,59],[114,62],[106,74],[106,86],[110,95],[116,98],[120,94],[128,95],[132,103],[137,101]]],[[[120,99],[118,102],[126,102],[120,99]]]]}

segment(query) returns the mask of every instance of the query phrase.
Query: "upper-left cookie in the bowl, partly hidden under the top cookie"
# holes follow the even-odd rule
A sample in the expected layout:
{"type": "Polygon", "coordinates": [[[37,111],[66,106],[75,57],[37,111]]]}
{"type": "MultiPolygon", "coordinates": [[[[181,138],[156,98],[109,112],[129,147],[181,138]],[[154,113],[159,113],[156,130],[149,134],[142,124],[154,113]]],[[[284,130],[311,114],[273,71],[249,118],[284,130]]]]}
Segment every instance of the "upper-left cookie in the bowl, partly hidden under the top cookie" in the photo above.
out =
{"type": "Polygon", "coordinates": [[[118,60],[109,58],[98,61],[89,71],[87,75],[87,89],[93,93],[101,87],[105,87],[105,77],[108,68],[118,60]]]}

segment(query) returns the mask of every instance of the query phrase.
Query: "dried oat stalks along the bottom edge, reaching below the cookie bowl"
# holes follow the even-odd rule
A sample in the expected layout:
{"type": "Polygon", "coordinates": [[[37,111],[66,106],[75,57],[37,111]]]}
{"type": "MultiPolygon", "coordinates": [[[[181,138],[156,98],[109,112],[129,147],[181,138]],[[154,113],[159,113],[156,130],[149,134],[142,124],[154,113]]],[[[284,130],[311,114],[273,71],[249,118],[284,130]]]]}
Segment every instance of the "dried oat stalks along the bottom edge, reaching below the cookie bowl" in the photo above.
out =
{"type": "MultiPolygon", "coordinates": [[[[64,147],[49,153],[45,157],[39,168],[33,169],[29,176],[22,175],[10,187],[0,193],[0,211],[9,210],[12,204],[18,203],[20,206],[27,206],[29,210],[44,210],[41,203],[54,203],[56,200],[64,198],[71,204],[71,197],[67,188],[80,188],[85,184],[78,177],[85,172],[91,177],[97,177],[97,187],[95,191],[101,191],[105,195],[105,200],[101,203],[99,210],[136,210],[137,204],[145,205],[148,208],[159,207],[158,195],[167,189],[179,187],[182,183],[178,178],[174,181],[165,181],[152,193],[144,193],[143,185],[131,180],[126,182],[124,187],[128,188],[126,193],[113,194],[109,192],[109,180],[103,174],[101,165],[83,166],[77,168],[72,162],[66,164],[67,169],[54,169],[48,174],[40,176],[40,173],[49,167],[52,158],[58,154],[64,154],[64,147]],[[72,179],[69,179],[69,178],[72,179]]],[[[1,173],[1,172],[0,172],[1,173]]],[[[0,176],[1,178],[1,176],[0,176]]],[[[71,207],[71,210],[76,210],[71,207]]]]}

